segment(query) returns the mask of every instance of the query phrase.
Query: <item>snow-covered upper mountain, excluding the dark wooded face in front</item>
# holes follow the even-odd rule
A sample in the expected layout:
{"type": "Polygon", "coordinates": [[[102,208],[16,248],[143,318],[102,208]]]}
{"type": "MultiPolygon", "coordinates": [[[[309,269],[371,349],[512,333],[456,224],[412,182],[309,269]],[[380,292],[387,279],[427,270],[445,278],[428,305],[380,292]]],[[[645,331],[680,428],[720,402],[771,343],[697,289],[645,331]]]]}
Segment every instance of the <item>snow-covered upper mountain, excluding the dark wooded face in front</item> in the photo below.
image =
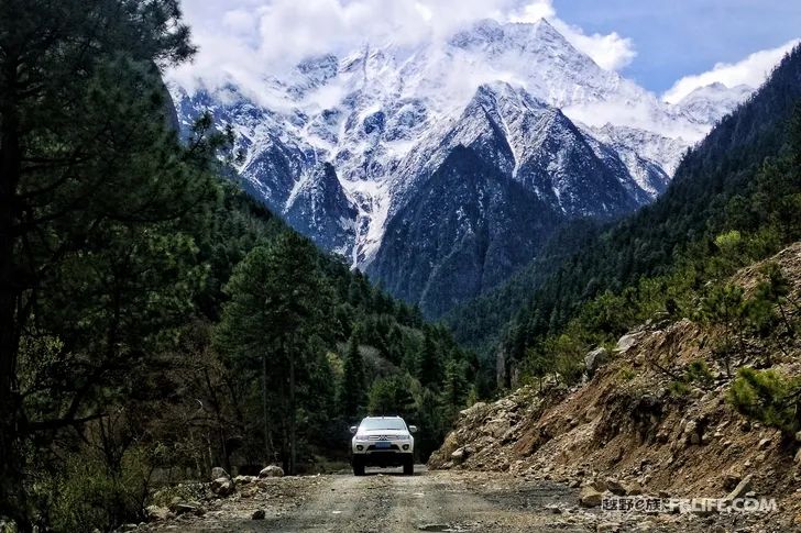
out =
{"type": "Polygon", "coordinates": [[[652,197],[689,143],[748,93],[710,86],[670,106],[601,68],[545,19],[483,20],[443,42],[365,43],[308,57],[264,79],[259,95],[233,85],[171,87],[185,124],[210,109],[234,126],[246,155],[238,170],[255,193],[288,219],[303,219],[297,226],[325,229],[326,246],[352,254],[354,266],[371,260],[387,218],[447,156],[442,145],[485,135],[482,121],[508,144],[509,153],[497,155],[504,173],[517,175],[551,124],[568,132],[577,123],[599,157],[619,157],[612,163],[624,164],[652,197]],[[348,216],[352,224],[342,225],[348,216]]]}

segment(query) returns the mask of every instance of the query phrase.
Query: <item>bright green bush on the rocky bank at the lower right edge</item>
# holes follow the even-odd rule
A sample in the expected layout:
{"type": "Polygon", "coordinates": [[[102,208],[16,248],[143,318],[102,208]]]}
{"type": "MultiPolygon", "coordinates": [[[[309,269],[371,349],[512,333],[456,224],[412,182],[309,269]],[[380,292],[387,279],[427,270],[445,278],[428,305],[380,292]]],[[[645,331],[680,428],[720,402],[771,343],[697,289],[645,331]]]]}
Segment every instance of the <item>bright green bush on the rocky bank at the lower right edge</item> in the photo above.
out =
{"type": "Polygon", "coordinates": [[[740,368],[728,401],[744,415],[778,427],[786,435],[801,429],[801,380],[776,370],[740,368]]]}

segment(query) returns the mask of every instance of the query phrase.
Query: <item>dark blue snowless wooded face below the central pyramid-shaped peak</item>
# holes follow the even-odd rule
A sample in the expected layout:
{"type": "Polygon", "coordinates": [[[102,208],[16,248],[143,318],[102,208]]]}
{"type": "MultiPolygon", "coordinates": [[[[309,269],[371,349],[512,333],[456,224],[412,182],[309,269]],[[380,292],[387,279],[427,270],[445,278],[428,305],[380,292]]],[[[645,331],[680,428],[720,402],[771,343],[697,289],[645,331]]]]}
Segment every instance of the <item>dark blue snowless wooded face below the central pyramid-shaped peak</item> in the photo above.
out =
{"type": "Polygon", "coordinates": [[[382,285],[425,314],[506,279],[561,221],[560,213],[483,159],[458,146],[387,224],[372,265],[382,285]]]}

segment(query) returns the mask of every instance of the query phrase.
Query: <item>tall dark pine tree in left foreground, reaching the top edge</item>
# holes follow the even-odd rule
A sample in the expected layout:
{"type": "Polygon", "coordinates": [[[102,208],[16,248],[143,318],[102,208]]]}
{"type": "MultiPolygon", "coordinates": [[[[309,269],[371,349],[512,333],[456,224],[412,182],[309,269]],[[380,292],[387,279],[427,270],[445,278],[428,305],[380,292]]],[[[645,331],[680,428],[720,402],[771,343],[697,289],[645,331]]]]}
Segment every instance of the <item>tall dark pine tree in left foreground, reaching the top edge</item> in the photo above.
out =
{"type": "MultiPolygon", "coordinates": [[[[70,340],[58,356],[87,347],[90,353],[81,354],[80,366],[55,362],[69,374],[56,374],[59,382],[47,387],[54,395],[43,390],[46,402],[26,412],[18,384],[20,346],[32,318],[47,324],[48,297],[78,271],[81,259],[98,265],[102,255],[124,257],[119,247],[107,254],[107,240],[114,245],[128,232],[139,242],[128,245],[132,254],[182,247],[168,240],[160,244],[158,234],[180,216],[191,220],[194,206],[202,203],[195,193],[208,181],[186,166],[200,151],[182,153],[165,127],[156,65],[180,63],[193,53],[174,0],[3,1],[0,49],[0,515],[28,529],[21,447],[34,434],[53,435],[101,415],[98,395],[123,386],[116,380],[124,374],[120,369],[150,351],[136,342],[125,347],[136,356],[131,363],[121,354],[118,334],[135,340],[122,331],[123,322],[135,325],[123,317],[122,303],[119,317],[107,323],[113,342],[106,349],[88,330],[77,331],[86,315],[74,307],[76,321],[63,322],[72,324],[70,340]]],[[[101,271],[108,274],[105,266],[101,271]]],[[[118,308],[117,281],[101,280],[107,281],[102,295],[85,289],[84,302],[95,296],[89,304],[97,309],[111,296],[110,307],[118,308]]],[[[124,281],[125,291],[131,282],[124,281]]],[[[139,299],[128,311],[139,313],[142,303],[139,299]]]]}

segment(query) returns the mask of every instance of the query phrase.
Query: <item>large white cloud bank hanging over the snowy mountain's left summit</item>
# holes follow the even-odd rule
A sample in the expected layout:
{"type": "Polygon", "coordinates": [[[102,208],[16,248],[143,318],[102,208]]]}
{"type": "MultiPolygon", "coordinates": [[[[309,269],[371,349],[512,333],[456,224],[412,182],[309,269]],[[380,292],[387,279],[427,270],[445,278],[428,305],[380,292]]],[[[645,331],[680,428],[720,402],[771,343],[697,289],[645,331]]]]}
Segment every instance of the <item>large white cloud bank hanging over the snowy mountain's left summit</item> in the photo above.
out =
{"type": "Polygon", "coordinates": [[[196,78],[230,80],[256,91],[261,79],[309,55],[343,53],[364,43],[415,45],[445,38],[481,19],[536,22],[547,18],[604,68],[635,56],[616,33],[585,35],[557,18],[552,0],[184,0],[200,53],[173,73],[184,86],[196,78]]]}

